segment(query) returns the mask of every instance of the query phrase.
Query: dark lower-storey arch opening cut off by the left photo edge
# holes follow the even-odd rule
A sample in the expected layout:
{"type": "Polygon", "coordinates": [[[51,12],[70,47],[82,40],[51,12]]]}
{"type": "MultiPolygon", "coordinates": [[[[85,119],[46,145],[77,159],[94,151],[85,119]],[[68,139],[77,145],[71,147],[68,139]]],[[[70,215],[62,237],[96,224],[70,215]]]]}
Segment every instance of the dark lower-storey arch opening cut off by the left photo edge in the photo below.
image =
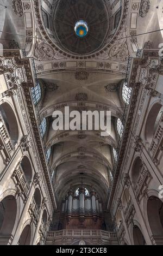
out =
{"type": "MultiPolygon", "coordinates": [[[[0,203],[0,234],[1,240],[9,240],[14,229],[17,214],[17,203],[13,195],[8,195],[0,203]],[[8,238],[7,238],[8,237],[8,238]]],[[[8,241],[6,241],[8,242],[8,241]]]]}

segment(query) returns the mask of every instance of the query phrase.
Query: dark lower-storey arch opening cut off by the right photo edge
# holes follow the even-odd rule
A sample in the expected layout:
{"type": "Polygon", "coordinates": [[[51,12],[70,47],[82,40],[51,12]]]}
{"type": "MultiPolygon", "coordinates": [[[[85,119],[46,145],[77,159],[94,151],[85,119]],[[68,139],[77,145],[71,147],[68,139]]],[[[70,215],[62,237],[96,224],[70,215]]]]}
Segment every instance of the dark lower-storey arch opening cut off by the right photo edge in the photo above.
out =
{"type": "Polygon", "coordinates": [[[163,243],[163,202],[158,197],[149,197],[147,201],[147,216],[152,235],[160,237],[163,243]]]}

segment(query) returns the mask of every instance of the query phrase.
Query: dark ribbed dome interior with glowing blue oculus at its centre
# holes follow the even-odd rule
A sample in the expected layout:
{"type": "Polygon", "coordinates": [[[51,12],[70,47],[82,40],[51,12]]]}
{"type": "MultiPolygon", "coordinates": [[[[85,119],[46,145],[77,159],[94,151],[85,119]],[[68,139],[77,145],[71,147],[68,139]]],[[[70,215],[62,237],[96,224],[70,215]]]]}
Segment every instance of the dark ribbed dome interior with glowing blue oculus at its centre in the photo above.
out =
{"type": "Polygon", "coordinates": [[[53,13],[55,43],[74,55],[100,50],[110,30],[109,12],[101,0],[60,0],[53,13]]]}

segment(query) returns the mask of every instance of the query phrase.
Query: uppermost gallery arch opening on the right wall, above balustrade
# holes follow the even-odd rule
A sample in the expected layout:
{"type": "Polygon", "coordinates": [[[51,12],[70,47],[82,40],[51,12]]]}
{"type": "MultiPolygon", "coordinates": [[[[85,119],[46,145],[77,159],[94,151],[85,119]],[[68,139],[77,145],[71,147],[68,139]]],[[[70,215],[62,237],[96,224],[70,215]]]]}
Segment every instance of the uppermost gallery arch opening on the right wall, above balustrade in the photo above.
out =
{"type": "Polygon", "coordinates": [[[160,103],[155,103],[149,111],[145,125],[145,140],[149,144],[151,144],[156,129],[158,128],[162,111],[163,106],[160,103]]]}

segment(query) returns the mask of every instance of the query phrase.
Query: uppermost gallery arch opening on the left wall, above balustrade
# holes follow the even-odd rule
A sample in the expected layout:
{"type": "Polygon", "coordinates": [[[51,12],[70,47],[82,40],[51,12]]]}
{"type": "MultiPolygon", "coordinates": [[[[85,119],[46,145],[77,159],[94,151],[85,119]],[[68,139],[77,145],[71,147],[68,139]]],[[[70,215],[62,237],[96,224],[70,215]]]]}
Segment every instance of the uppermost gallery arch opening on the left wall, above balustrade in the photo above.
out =
{"type": "Polygon", "coordinates": [[[9,132],[12,144],[15,146],[18,141],[18,124],[14,111],[11,106],[4,102],[0,105],[1,115],[3,117],[5,126],[9,132]]]}

